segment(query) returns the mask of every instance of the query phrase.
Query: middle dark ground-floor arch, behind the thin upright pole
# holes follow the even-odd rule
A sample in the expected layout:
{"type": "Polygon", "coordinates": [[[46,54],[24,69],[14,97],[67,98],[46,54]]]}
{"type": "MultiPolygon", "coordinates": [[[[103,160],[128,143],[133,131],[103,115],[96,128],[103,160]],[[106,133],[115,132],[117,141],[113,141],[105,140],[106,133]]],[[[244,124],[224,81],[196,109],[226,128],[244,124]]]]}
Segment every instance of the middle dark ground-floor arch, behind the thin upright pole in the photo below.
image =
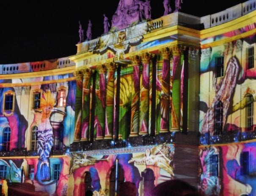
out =
{"type": "Polygon", "coordinates": [[[122,182],[124,182],[124,169],[120,164],[118,164],[118,169],[116,169],[116,166],[113,166],[111,168],[109,196],[116,195],[116,191],[118,191],[118,186],[122,182]]]}

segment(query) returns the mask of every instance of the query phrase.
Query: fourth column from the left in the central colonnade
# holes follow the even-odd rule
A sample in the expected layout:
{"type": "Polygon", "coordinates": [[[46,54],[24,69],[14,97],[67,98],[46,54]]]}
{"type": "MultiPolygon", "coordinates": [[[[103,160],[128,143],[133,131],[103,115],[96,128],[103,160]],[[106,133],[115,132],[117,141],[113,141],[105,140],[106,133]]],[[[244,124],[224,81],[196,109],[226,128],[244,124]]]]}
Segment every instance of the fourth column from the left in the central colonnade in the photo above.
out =
{"type": "Polygon", "coordinates": [[[105,115],[105,137],[104,139],[113,139],[113,119],[114,119],[114,86],[115,70],[114,63],[105,64],[107,68],[107,94],[106,94],[106,115],[105,115]]]}

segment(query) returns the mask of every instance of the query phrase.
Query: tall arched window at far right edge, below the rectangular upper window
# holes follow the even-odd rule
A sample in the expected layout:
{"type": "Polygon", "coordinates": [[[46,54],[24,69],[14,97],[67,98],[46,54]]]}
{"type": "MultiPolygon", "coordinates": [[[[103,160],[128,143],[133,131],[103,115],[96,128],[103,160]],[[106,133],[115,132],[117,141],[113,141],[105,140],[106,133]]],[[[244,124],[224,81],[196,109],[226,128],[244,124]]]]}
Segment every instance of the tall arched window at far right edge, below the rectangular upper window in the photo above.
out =
{"type": "Polygon", "coordinates": [[[245,116],[246,116],[246,130],[253,130],[253,96],[248,94],[245,96],[246,107],[245,107],[245,116]]]}

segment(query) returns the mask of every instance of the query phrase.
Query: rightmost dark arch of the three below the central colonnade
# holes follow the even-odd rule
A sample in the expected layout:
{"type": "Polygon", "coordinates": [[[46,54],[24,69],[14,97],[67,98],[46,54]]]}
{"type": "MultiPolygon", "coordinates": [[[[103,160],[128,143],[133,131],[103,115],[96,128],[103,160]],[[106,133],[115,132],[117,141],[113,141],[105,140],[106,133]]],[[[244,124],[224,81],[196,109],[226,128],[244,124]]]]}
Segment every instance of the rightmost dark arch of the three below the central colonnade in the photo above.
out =
{"type": "Polygon", "coordinates": [[[141,176],[143,177],[144,196],[150,196],[151,190],[154,188],[154,172],[152,169],[146,168],[143,172],[141,172],[141,176]]]}

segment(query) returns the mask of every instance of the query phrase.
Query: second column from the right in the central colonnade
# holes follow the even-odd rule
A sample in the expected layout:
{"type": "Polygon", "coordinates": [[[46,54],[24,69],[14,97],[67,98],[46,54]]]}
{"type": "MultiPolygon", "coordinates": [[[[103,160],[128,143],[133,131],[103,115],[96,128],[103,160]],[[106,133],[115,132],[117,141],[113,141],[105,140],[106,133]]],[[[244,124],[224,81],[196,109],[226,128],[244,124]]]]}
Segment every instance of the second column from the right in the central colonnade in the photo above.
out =
{"type": "Polygon", "coordinates": [[[160,133],[169,132],[170,119],[170,54],[169,48],[159,50],[162,56],[161,100],[160,100],[160,133]]]}

